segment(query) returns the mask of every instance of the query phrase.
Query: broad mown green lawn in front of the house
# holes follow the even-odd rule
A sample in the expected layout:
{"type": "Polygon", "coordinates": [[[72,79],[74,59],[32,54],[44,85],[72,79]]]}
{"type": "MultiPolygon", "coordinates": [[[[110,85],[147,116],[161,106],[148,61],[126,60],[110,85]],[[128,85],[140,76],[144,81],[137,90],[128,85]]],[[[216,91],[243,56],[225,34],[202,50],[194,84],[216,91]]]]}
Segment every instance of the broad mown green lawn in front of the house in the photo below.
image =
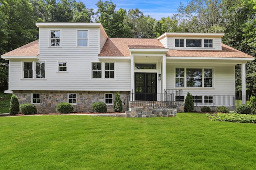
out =
{"type": "Polygon", "coordinates": [[[0,117],[0,169],[252,170],[256,125],[205,114],[0,117]]]}

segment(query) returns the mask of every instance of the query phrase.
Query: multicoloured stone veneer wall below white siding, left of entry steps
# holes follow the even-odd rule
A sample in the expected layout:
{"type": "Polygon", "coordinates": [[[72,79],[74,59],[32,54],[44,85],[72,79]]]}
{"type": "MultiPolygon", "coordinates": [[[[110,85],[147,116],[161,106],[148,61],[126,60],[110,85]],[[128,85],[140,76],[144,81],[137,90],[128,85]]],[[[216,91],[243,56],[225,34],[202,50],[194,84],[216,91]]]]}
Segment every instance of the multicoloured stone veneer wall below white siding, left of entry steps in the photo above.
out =
{"type": "MultiPolygon", "coordinates": [[[[38,113],[56,113],[56,106],[68,102],[68,93],[76,93],[74,112],[92,112],[92,104],[105,102],[104,94],[113,94],[113,104],[116,91],[13,91],[18,97],[19,104],[32,103],[32,93],[40,93],[40,104],[34,104],[38,113]]],[[[121,91],[123,109],[127,110],[127,95],[130,92],[121,91]]],[[[113,111],[113,104],[107,105],[108,111],[113,111]]]]}

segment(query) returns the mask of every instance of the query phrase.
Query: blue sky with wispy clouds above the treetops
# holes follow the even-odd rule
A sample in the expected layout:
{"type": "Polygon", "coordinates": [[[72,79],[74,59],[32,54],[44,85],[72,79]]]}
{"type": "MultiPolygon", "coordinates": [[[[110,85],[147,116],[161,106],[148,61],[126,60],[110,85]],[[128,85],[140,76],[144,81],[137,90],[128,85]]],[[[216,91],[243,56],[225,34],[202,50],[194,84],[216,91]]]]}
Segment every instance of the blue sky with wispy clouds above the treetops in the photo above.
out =
{"type": "MultiPolygon", "coordinates": [[[[95,5],[98,0],[81,1],[85,4],[86,8],[93,8],[95,12],[98,9],[95,5]]],[[[129,9],[138,8],[144,15],[150,15],[156,20],[160,20],[162,17],[172,16],[172,14],[177,12],[180,2],[186,5],[188,1],[189,0],[112,0],[112,2],[116,4],[116,10],[123,8],[128,11],[129,9]]],[[[105,0],[103,0],[103,2],[105,2],[105,0]]]]}

